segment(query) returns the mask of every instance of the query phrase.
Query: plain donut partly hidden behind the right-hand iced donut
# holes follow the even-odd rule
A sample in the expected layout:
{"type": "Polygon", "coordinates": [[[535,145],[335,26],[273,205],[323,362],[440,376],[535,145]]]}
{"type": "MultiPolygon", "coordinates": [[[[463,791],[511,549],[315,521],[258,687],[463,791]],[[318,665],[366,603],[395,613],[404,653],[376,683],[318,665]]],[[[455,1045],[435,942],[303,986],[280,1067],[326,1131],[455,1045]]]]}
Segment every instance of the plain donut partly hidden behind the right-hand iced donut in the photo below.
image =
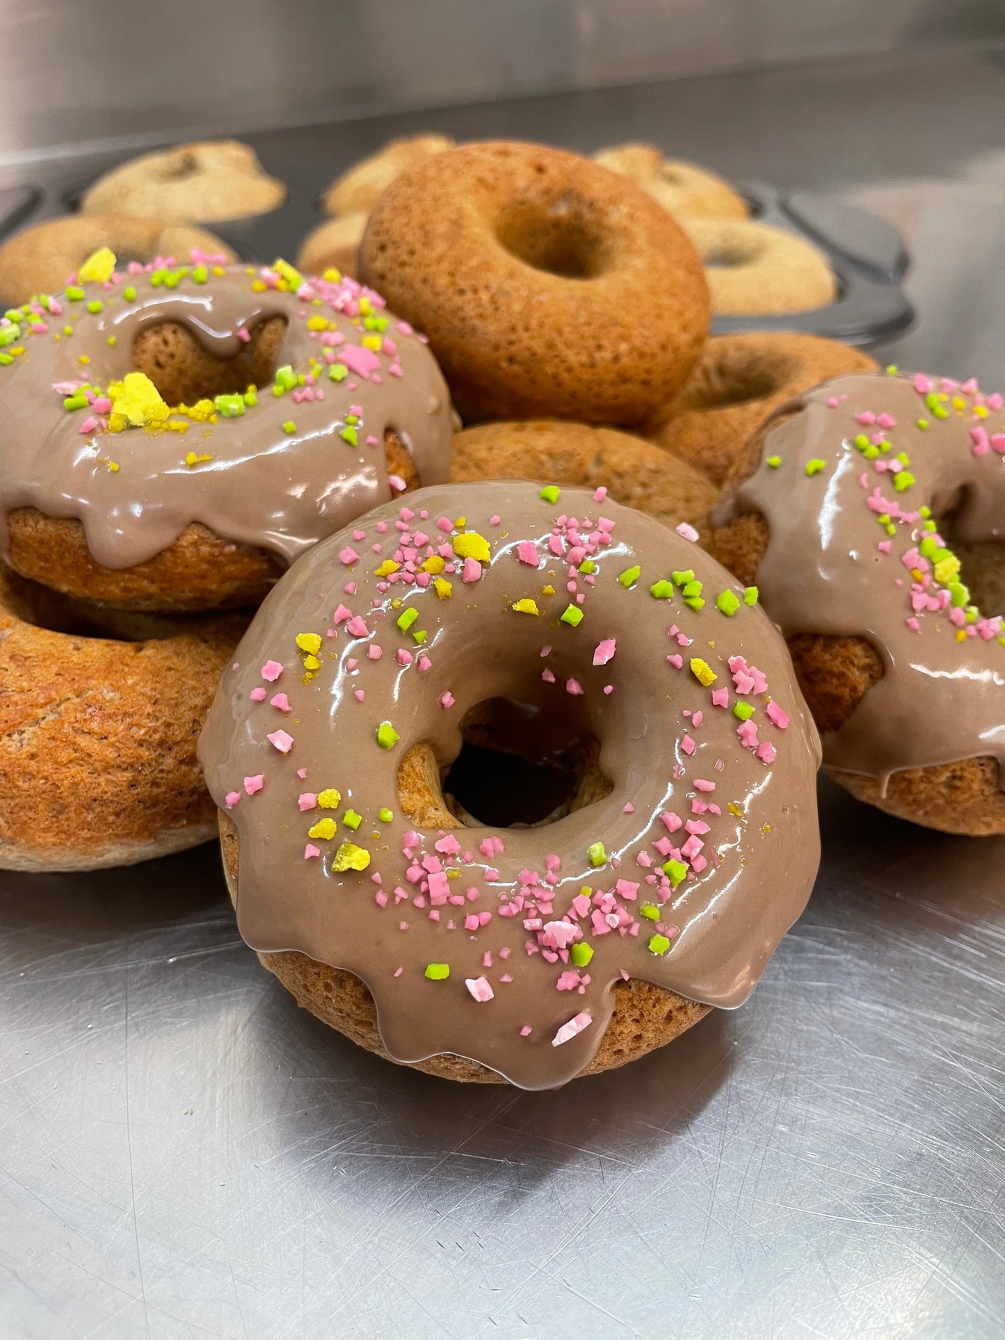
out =
{"type": "Polygon", "coordinates": [[[876,366],[868,354],[819,335],[713,335],[646,436],[722,485],[750,434],[780,405],[831,377],[876,366]]]}

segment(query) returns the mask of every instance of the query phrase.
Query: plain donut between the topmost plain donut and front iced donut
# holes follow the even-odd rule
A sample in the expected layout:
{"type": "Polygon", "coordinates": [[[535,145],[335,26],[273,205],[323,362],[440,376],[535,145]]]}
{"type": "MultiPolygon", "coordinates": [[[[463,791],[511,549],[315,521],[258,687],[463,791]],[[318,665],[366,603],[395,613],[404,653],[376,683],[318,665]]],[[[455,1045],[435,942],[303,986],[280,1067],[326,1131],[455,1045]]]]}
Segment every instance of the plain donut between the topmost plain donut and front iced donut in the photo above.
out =
{"type": "Polygon", "coordinates": [[[482,423],[454,437],[450,482],[551,480],[649,512],[663,525],[708,532],[718,490],[683,461],[627,433],[555,419],[482,423]]]}

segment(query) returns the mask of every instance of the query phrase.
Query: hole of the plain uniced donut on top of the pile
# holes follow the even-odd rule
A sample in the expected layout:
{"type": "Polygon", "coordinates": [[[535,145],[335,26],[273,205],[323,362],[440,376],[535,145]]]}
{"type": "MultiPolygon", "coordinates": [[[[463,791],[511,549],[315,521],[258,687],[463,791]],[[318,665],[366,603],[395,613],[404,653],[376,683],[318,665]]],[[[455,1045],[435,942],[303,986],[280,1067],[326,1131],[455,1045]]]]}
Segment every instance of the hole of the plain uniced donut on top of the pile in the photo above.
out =
{"type": "Polygon", "coordinates": [[[559,279],[595,279],[607,268],[604,237],[575,192],[551,202],[515,201],[496,236],[511,256],[559,279]]]}

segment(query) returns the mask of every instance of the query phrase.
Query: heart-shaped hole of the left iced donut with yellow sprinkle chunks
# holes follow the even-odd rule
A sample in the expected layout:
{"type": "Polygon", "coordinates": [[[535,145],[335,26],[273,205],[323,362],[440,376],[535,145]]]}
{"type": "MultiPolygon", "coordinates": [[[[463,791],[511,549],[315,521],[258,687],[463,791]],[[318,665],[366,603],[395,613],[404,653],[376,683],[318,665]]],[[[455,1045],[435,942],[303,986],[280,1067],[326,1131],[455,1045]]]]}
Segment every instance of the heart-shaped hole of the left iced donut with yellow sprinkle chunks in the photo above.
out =
{"type": "Polygon", "coordinates": [[[133,366],[150,378],[169,405],[240,394],[272,381],[285,326],[281,316],[259,322],[233,358],[218,358],[188,326],[158,322],[137,332],[133,366]]]}

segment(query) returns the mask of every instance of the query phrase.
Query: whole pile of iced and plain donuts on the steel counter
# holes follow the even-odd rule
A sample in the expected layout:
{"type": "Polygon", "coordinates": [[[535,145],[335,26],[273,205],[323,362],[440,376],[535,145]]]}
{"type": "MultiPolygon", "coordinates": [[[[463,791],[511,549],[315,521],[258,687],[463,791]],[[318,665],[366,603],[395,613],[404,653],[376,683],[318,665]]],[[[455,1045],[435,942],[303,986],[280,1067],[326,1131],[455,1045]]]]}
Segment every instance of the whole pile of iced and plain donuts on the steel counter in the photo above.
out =
{"type": "Polygon", "coordinates": [[[324,208],[299,268],[105,247],[0,322],[0,864],[218,823],[304,1008],[548,1088],[746,998],[821,760],[1005,832],[1001,397],[709,338],[773,244],[649,146],[422,137],[324,208]]]}

